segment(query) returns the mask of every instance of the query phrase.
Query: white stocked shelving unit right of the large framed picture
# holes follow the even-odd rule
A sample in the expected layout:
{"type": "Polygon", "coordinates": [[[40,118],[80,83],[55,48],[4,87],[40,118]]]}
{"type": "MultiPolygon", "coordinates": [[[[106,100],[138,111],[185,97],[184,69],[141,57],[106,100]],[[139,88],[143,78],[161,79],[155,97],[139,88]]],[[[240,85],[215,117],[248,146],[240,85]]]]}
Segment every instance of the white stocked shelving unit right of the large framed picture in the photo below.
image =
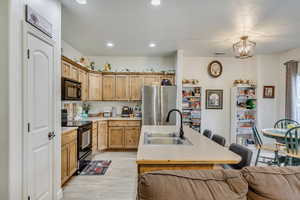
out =
{"type": "Polygon", "coordinates": [[[256,125],[256,88],[240,85],[231,89],[231,142],[252,144],[252,126],[256,125]]]}

